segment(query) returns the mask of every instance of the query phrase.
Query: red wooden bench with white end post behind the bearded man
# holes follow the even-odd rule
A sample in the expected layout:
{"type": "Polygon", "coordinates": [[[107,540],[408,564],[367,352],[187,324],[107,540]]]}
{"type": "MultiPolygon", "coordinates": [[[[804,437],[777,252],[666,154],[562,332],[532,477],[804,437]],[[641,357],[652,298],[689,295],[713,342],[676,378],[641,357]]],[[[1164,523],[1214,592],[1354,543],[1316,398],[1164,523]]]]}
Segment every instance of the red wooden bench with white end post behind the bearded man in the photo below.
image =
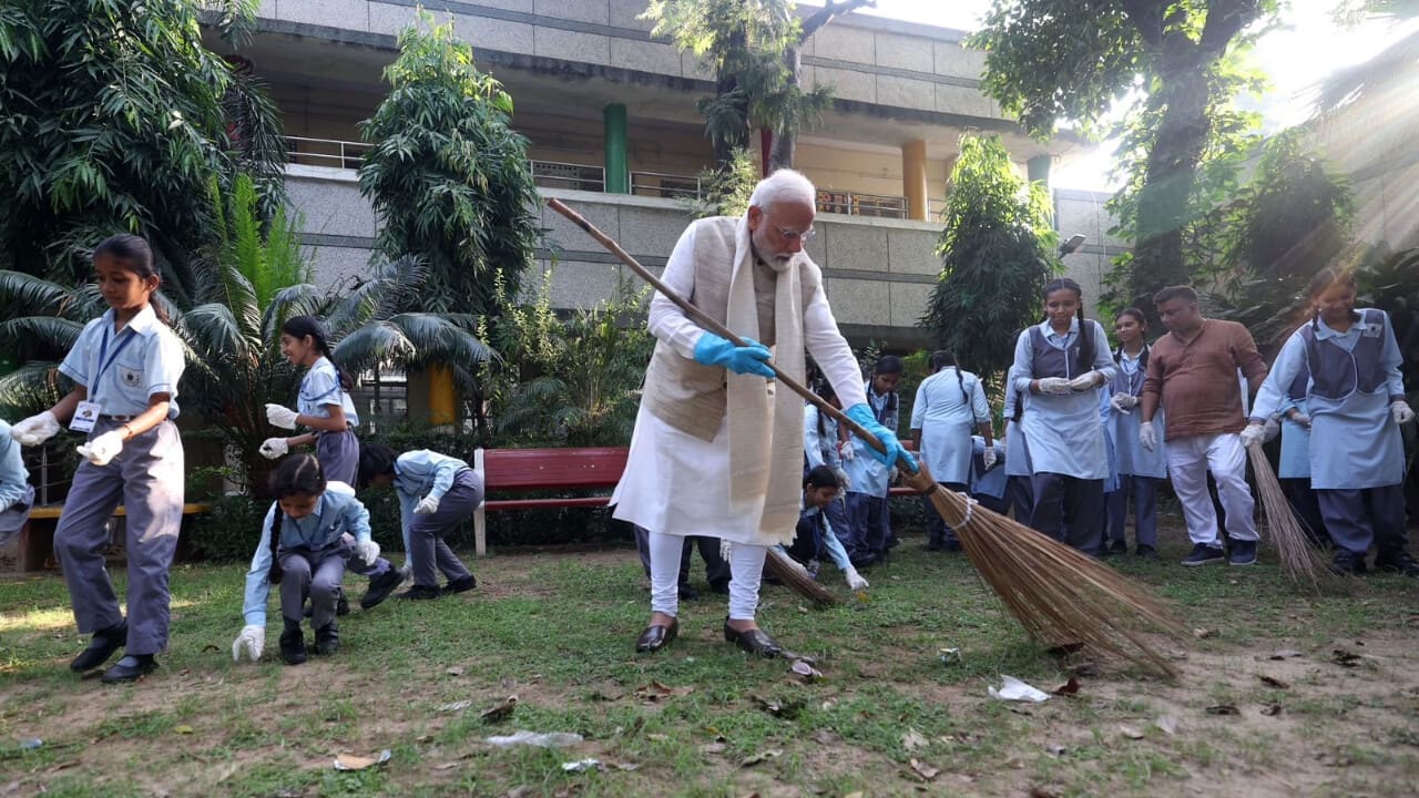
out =
{"type": "MultiPolygon", "coordinates": [[[[518,490],[610,490],[626,470],[624,446],[597,449],[478,449],[473,469],[482,474],[484,494],[518,490]]],[[[912,496],[910,487],[891,488],[893,496],[912,496]]],[[[485,500],[473,514],[474,547],[487,554],[487,517],[498,510],[538,510],[549,507],[606,507],[610,496],[563,498],[494,498],[485,500]]]]}

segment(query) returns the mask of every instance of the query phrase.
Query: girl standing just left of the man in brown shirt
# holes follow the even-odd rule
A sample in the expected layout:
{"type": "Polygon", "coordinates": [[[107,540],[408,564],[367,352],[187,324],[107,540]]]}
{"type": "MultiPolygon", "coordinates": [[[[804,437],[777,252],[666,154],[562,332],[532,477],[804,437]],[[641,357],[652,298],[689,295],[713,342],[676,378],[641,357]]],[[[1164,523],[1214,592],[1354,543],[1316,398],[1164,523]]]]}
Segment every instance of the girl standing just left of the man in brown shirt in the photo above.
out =
{"type": "MultiPolygon", "coordinates": [[[[1158,557],[1158,480],[1168,476],[1168,457],[1162,444],[1149,452],[1142,447],[1138,433],[1142,425],[1137,410],[1148,375],[1148,319],[1138,308],[1124,308],[1114,317],[1118,349],[1114,362],[1118,372],[1104,390],[1104,432],[1114,450],[1118,486],[1105,497],[1108,507],[1108,552],[1128,551],[1128,504],[1134,505],[1134,535],[1137,557],[1158,557]]],[[[1162,409],[1151,422],[1162,427],[1162,409]]]]}

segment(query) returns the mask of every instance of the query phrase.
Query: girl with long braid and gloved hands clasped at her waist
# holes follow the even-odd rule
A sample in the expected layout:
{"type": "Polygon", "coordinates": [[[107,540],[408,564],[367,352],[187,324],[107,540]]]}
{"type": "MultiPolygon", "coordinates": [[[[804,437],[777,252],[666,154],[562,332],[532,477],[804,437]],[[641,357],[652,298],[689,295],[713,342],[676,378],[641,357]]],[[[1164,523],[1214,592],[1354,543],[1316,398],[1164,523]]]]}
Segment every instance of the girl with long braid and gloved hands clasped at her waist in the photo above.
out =
{"type": "Polygon", "coordinates": [[[1078,283],[1046,284],[1044,314],[1015,345],[1015,389],[1030,396],[1020,422],[1034,467],[1030,527],[1097,554],[1108,477],[1098,389],[1118,369],[1104,328],[1084,318],[1078,283]]]}

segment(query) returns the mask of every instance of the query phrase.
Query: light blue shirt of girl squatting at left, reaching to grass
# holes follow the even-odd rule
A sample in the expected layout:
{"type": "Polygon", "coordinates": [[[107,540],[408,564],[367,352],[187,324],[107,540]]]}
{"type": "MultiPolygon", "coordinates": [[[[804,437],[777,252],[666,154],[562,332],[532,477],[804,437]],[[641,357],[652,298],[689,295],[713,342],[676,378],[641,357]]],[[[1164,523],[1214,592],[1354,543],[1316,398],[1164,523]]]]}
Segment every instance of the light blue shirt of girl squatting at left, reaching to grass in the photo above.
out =
{"type": "MultiPolygon", "coordinates": [[[[271,527],[275,524],[280,503],[272,501],[267,510],[265,521],[261,524],[261,542],[251,557],[251,569],[247,571],[247,594],[241,608],[241,615],[247,625],[265,625],[265,603],[271,595],[271,582],[267,574],[271,571],[271,527]]],[[[281,548],[309,548],[312,551],[339,542],[341,535],[349,532],[356,541],[369,540],[369,510],[355,498],[355,488],[345,483],[328,483],[325,493],[315,503],[315,510],[305,518],[281,518],[281,548]]]]}

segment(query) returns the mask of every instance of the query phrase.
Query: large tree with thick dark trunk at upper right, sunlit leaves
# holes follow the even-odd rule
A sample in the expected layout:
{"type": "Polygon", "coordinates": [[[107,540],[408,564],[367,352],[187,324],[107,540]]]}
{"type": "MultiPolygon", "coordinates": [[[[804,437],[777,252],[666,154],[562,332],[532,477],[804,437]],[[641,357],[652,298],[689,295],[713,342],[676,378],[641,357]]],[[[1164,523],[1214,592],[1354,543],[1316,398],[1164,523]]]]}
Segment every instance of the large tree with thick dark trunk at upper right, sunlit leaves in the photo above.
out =
{"type": "Polygon", "coordinates": [[[1135,248],[1115,271],[1114,304],[1188,280],[1186,229],[1246,152],[1252,116],[1230,102],[1256,84],[1240,55],[1269,27],[1249,26],[1276,10],[1276,0],[995,0],[972,37],[986,50],[983,88],[1032,135],[1125,119],[1128,179],[1111,210],[1135,248]]]}

